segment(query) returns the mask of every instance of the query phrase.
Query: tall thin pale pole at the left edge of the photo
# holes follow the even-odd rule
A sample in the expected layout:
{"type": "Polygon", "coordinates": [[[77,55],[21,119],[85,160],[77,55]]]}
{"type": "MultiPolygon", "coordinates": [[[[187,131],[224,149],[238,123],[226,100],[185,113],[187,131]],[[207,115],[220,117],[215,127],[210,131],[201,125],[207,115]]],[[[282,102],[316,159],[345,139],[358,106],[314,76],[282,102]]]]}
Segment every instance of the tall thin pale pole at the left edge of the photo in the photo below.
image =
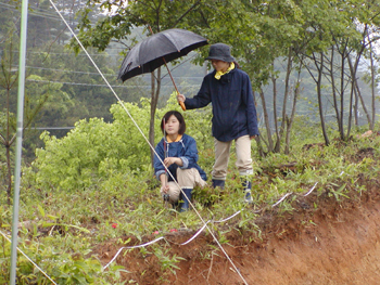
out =
{"type": "Polygon", "coordinates": [[[16,282],[17,265],[17,231],[18,231],[18,204],[20,204],[20,180],[21,180],[21,156],[23,147],[23,120],[24,120],[24,91],[25,91],[25,59],[26,59],[26,31],[28,0],[23,0],[21,11],[20,34],[20,61],[18,61],[18,95],[17,95],[17,126],[16,126],[16,153],[14,168],[13,190],[13,220],[12,220],[12,251],[10,284],[16,282]]]}

